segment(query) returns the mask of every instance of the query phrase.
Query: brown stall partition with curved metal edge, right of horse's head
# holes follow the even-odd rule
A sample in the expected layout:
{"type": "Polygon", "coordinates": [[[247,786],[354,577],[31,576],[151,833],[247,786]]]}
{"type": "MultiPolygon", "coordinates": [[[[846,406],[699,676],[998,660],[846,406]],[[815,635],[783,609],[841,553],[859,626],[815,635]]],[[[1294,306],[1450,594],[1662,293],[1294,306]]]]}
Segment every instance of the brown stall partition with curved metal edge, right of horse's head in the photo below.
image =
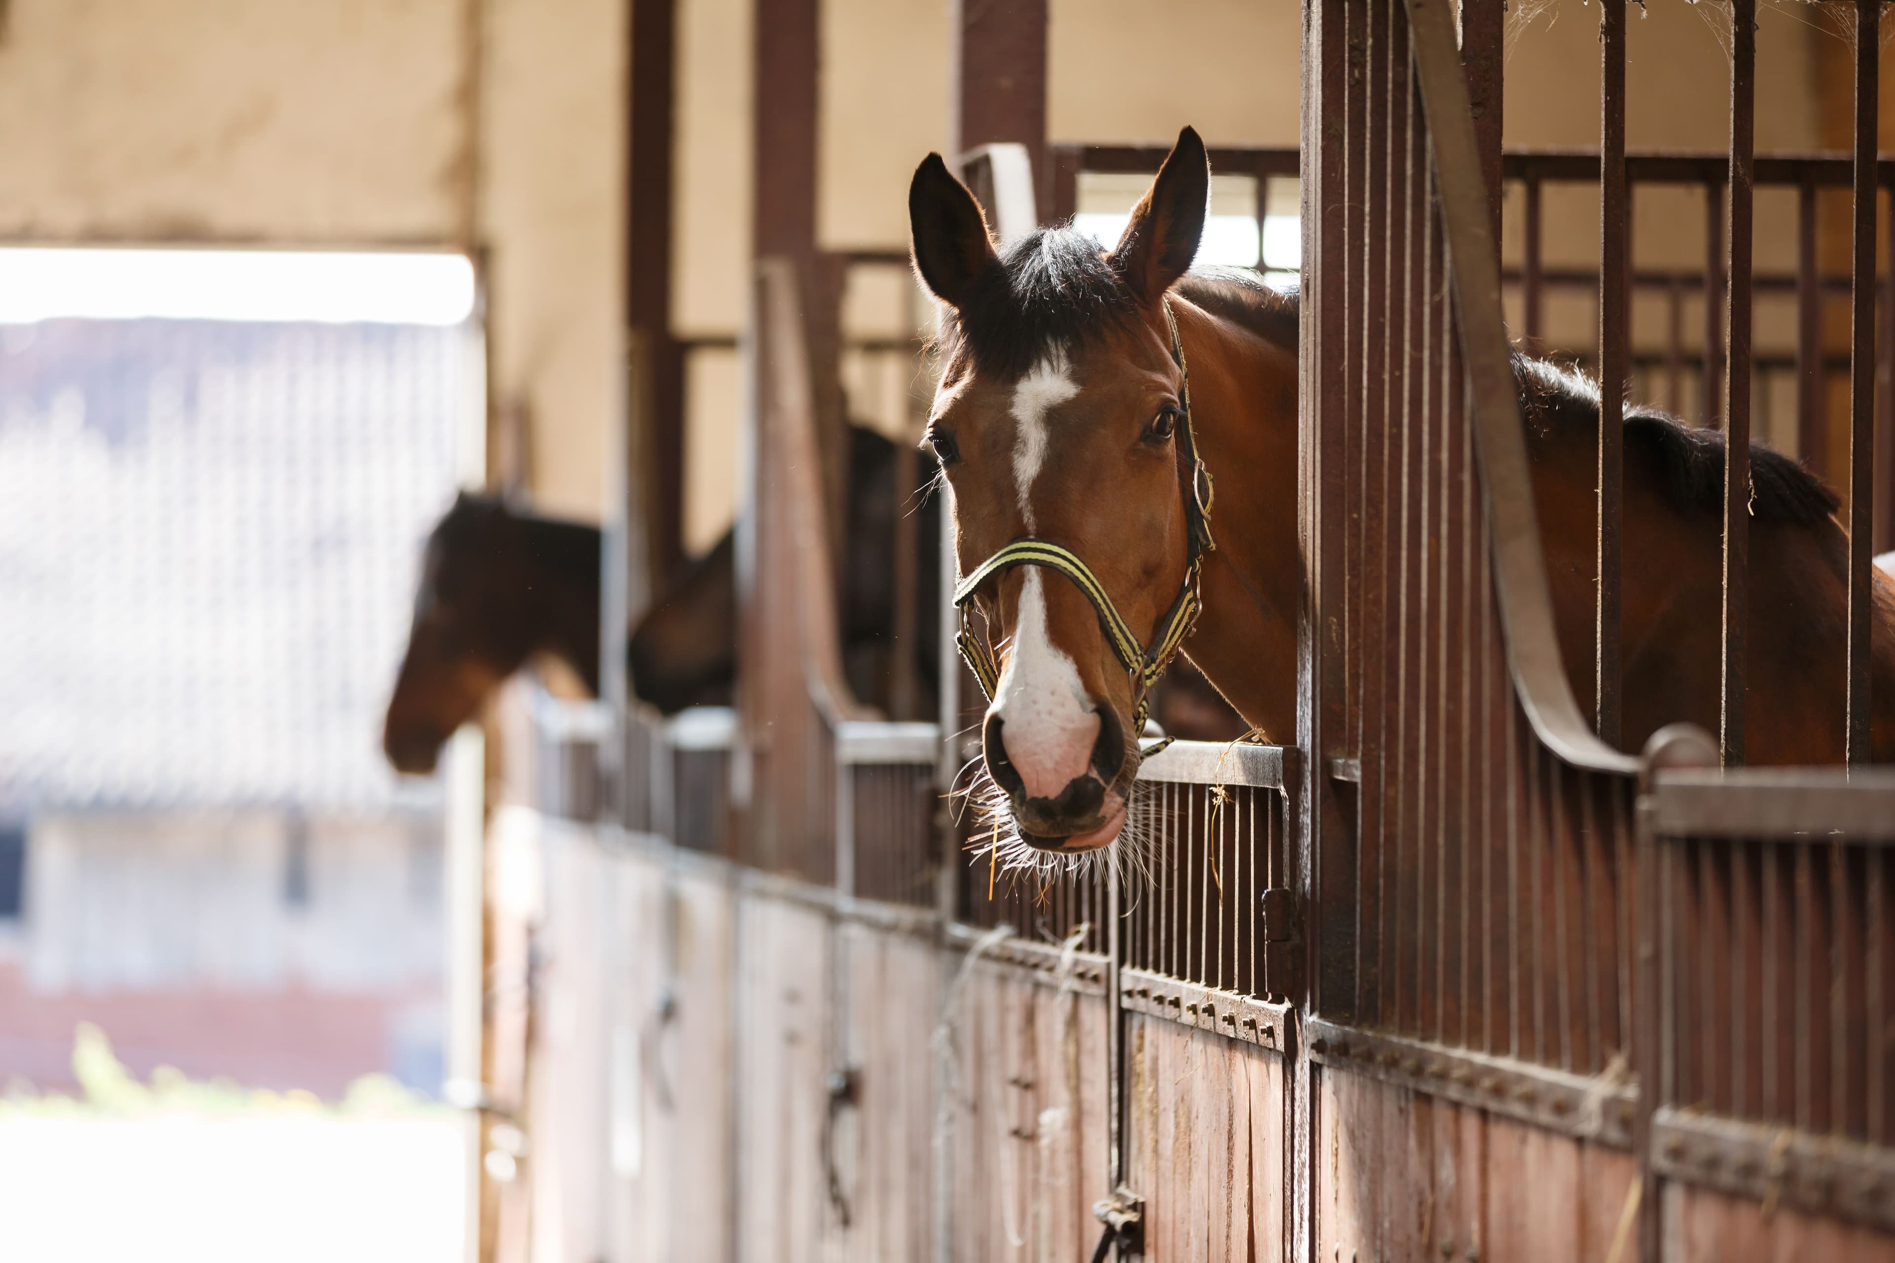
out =
{"type": "Polygon", "coordinates": [[[1499,76],[1482,17],[1306,6],[1325,1259],[1594,1259],[1632,1223],[1637,763],[1592,735],[1552,634],[1484,193],[1499,119],[1469,106],[1499,76]]]}

